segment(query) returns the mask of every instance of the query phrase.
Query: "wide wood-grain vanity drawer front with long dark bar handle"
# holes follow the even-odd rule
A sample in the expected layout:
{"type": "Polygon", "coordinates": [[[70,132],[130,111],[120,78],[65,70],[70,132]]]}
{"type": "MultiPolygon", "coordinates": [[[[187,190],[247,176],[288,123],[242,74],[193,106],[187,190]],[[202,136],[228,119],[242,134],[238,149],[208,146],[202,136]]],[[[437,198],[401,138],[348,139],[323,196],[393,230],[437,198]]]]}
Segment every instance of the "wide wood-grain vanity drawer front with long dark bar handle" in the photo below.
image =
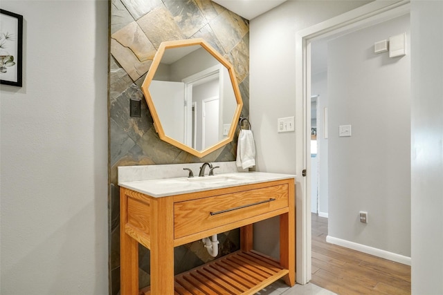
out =
{"type": "MultiPolygon", "coordinates": [[[[174,203],[174,238],[288,207],[288,184],[174,203]]],[[[235,228],[235,227],[233,227],[235,228]]]]}

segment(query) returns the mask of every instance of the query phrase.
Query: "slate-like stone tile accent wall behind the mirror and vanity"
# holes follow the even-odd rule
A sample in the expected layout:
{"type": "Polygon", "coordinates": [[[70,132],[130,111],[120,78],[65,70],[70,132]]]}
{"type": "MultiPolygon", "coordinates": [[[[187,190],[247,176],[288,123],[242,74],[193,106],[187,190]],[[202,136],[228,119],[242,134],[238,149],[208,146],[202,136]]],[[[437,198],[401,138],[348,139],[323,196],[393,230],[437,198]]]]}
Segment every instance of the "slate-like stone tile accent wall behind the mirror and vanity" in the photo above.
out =
{"type": "MultiPolygon", "coordinates": [[[[162,41],[204,38],[235,68],[248,117],[249,23],[213,1],[112,0],[109,55],[109,274],[110,294],[120,290],[117,166],[235,160],[236,138],[197,158],[159,139],[140,86],[162,41]],[[141,99],[141,117],[129,117],[129,99],[141,99]]],[[[219,255],[239,248],[239,231],[219,235],[219,255]]],[[[149,250],[139,247],[140,287],[150,285],[149,250]]],[[[174,249],[175,272],[212,260],[201,242],[174,249]]]]}

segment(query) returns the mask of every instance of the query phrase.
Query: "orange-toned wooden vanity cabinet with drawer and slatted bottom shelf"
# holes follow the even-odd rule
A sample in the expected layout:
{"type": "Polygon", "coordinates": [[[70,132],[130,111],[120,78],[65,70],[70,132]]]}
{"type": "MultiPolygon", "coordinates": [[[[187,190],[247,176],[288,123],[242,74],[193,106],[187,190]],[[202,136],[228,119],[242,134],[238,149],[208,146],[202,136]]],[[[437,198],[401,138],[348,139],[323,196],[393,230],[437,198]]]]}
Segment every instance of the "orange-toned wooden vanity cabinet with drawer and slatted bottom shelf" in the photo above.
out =
{"type": "Polygon", "coordinates": [[[154,198],[120,187],[120,294],[254,294],[295,284],[294,180],[154,198]],[[253,250],[253,223],[280,216],[280,261],[253,250]],[[174,247],[240,228],[241,249],[174,277],[174,247]],[[150,249],[151,285],[138,289],[138,243],[150,249]]]}

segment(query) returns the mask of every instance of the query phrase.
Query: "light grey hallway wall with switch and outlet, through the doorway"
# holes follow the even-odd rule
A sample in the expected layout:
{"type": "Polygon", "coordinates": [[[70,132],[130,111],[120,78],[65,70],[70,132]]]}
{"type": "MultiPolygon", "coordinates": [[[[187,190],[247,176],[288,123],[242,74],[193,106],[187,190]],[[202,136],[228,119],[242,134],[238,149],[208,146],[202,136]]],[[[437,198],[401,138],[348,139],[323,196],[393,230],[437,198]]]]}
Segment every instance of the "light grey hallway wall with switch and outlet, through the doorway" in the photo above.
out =
{"type": "Polygon", "coordinates": [[[410,257],[410,47],[373,52],[403,32],[410,44],[409,15],[328,43],[328,236],[410,257]]]}

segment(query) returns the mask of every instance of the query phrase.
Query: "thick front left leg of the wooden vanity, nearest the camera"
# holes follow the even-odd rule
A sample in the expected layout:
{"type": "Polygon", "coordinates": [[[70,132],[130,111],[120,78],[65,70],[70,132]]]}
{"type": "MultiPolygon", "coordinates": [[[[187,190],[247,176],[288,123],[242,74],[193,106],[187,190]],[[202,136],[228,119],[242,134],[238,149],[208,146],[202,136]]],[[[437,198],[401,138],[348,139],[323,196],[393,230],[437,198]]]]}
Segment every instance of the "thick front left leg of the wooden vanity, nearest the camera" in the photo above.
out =
{"type": "Polygon", "coordinates": [[[151,294],[174,294],[174,211],[172,198],[151,202],[151,294]]]}

